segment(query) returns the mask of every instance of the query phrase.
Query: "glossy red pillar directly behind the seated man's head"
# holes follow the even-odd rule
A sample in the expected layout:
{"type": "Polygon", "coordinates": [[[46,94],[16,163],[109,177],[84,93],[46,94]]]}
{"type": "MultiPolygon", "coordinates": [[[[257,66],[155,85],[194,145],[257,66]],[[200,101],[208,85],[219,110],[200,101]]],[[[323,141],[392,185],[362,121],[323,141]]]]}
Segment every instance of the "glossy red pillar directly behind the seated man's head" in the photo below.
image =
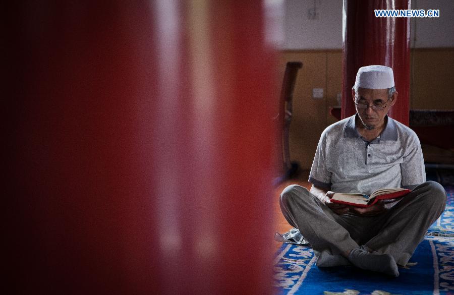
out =
{"type": "Polygon", "coordinates": [[[342,119],[356,112],[352,87],[358,69],[369,65],[392,68],[396,104],[389,116],[409,124],[410,99],[410,19],[376,18],[375,9],[410,9],[410,0],[344,0],[344,60],[342,119]]]}

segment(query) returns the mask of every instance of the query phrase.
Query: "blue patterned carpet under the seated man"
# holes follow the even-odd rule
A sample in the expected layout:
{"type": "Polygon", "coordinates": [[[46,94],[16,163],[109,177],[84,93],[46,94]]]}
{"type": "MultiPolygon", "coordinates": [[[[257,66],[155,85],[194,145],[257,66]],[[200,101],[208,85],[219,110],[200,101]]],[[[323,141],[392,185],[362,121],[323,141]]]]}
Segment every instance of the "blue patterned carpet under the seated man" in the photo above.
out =
{"type": "Polygon", "coordinates": [[[277,294],[454,295],[454,186],[445,186],[446,210],[430,227],[398,278],[353,266],[318,268],[312,249],[283,244],[276,254],[277,294]],[[443,237],[444,235],[444,237],[443,237]]]}

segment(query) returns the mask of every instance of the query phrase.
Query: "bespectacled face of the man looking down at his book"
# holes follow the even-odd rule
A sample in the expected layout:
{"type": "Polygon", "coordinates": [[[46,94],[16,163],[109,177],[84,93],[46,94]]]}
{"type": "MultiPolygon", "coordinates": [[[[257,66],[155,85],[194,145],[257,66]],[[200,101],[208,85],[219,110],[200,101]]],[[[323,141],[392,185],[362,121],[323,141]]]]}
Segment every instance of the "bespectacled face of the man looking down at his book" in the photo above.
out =
{"type": "Polygon", "coordinates": [[[353,99],[357,103],[356,110],[364,128],[373,130],[384,124],[384,117],[388,113],[389,108],[394,105],[397,93],[388,100],[387,89],[367,89],[358,88],[358,93],[355,98],[353,91],[353,99]],[[367,107],[364,108],[364,106],[367,107]],[[380,109],[383,108],[383,109],[380,109]]]}

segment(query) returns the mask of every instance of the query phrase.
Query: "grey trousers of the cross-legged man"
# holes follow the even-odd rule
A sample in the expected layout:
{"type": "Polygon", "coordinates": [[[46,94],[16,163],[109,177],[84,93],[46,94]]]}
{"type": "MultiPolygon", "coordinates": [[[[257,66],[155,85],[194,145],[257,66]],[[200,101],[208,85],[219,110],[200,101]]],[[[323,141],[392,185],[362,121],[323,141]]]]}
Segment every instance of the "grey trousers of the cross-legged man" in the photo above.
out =
{"type": "Polygon", "coordinates": [[[288,186],[280,195],[283,216],[300,230],[319,260],[342,260],[341,254],[362,246],[370,252],[390,254],[402,266],[445,204],[446,192],[432,181],[417,186],[398,204],[376,216],[337,215],[298,185],[288,186]]]}

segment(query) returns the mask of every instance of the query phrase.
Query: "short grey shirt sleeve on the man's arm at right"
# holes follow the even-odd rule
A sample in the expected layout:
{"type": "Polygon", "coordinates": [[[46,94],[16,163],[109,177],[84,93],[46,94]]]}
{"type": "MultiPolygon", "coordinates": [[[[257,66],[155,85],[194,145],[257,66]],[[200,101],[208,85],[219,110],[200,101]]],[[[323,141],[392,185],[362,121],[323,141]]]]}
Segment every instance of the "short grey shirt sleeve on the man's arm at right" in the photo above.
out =
{"type": "Polygon", "coordinates": [[[413,189],[426,181],[426,170],[421,144],[416,134],[408,145],[408,153],[404,155],[404,161],[401,163],[402,187],[413,189]]]}

